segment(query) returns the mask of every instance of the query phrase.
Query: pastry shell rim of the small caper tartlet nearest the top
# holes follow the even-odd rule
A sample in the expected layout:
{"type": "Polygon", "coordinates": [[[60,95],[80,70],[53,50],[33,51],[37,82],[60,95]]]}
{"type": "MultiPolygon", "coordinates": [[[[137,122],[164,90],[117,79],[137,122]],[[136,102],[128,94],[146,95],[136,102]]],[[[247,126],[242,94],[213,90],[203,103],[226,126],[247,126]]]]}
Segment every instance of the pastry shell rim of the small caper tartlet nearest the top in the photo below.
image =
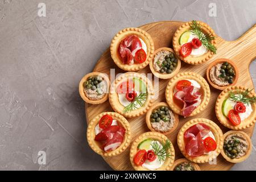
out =
{"type": "MultiPolygon", "coordinates": [[[[175,54],[174,50],[171,49],[171,48],[168,48],[168,47],[162,47],[162,48],[159,48],[159,49],[156,49],[156,51],[154,52],[154,56],[153,56],[153,59],[150,61],[150,69],[151,69],[151,72],[158,78],[162,78],[162,79],[168,79],[168,78],[172,78],[174,77],[179,71],[180,71],[180,67],[181,67],[181,61],[180,59],[178,59],[177,57],[177,66],[176,68],[172,71],[172,73],[160,73],[158,71],[156,71],[154,69],[154,57],[155,55],[160,52],[160,51],[169,51],[169,52],[172,52],[175,54]]],[[[176,56],[176,55],[175,55],[176,56]]]]}

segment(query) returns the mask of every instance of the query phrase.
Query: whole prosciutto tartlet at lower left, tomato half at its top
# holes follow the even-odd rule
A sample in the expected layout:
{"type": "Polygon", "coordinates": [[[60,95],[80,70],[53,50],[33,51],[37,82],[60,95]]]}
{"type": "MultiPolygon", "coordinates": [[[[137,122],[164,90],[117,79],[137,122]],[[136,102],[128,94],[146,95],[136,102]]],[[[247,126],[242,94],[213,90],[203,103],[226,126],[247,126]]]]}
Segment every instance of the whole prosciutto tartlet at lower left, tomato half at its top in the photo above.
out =
{"type": "Polygon", "coordinates": [[[102,156],[119,155],[131,141],[130,123],[120,114],[105,112],[89,122],[87,129],[89,146],[102,156]]]}

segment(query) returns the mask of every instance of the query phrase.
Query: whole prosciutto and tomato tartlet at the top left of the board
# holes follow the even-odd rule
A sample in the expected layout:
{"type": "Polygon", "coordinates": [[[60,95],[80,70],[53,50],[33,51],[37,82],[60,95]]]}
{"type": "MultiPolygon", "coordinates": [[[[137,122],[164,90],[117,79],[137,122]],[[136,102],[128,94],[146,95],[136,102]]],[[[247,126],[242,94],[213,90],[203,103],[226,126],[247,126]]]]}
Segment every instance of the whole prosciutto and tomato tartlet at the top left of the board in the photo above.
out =
{"type": "Polygon", "coordinates": [[[114,36],[110,53],[119,68],[138,71],[152,60],[154,42],[151,36],[140,28],[125,28],[114,36]]]}

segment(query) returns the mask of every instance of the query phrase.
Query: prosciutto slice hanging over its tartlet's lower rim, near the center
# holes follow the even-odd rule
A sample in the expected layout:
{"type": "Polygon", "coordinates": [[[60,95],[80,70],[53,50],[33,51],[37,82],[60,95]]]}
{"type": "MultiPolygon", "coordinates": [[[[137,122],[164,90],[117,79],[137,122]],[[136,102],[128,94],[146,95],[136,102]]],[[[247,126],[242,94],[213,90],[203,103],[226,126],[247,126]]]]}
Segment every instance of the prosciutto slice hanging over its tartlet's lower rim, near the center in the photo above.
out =
{"type": "Polygon", "coordinates": [[[184,86],[182,90],[177,90],[174,97],[183,103],[182,114],[188,117],[200,104],[200,92],[193,92],[194,86],[184,86]]]}

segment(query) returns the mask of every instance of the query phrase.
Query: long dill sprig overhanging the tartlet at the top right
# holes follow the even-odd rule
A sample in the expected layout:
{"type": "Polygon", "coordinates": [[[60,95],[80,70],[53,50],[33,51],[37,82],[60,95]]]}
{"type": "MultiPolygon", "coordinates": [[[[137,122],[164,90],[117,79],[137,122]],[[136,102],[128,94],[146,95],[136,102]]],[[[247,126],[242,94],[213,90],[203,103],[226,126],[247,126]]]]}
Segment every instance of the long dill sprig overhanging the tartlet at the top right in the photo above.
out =
{"type": "Polygon", "coordinates": [[[191,32],[198,36],[201,43],[209,50],[212,51],[214,54],[217,52],[217,48],[210,43],[213,39],[215,39],[215,36],[203,34],[201,31],[201,25],[197,23],[195,20],[192,20],[192,23],[190,24],[191,32]]]}

